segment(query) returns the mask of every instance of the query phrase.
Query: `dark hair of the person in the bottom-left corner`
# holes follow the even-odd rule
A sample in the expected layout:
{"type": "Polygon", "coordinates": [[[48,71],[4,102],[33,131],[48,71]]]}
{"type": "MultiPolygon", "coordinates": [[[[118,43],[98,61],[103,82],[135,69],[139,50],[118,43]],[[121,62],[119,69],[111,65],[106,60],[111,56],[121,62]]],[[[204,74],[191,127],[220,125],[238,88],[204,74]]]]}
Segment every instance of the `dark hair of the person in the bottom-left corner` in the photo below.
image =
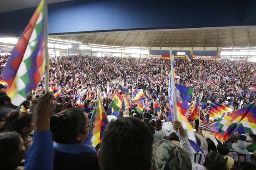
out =
{"type": "Polygon", "coordinates": [[[8,163],[7,159],[18,151],[21,144],[21,136],[15,132],[0,133],[0,165],[1,169],[11,169],[13,163],[8,163]]]}

